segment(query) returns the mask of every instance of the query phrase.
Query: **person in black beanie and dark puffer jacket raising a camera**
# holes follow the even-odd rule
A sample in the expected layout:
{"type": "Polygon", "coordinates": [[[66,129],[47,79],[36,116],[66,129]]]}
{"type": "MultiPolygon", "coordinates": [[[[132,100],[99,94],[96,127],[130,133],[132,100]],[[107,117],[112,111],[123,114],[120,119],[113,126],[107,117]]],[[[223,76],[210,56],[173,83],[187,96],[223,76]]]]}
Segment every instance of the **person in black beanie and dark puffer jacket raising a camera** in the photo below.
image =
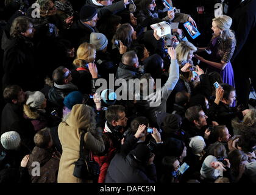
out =
{"type": "Polygon", "coordinates": [[[157,172],[153,163],[155,155],[148,146],[138,144],[131,151],[133,144],[146,129],[145,125],[138,127],[135,135],[130,136],[115,155],[107,170],[105,183],[154,183],[157,182],[157,172]]]}

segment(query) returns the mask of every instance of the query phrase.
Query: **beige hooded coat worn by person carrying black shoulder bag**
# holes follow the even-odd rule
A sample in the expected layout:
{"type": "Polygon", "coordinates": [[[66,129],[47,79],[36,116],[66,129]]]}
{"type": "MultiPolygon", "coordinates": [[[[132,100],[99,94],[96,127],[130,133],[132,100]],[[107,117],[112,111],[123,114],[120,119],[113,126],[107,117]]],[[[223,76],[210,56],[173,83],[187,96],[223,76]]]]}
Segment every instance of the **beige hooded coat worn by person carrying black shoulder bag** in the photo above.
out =
{"type": "MultiPolygon", "coordinates": [[[[58,133],[63,152],[60,158],[58,183],[85,182],[73,176],[73,163],[79,158],[81,129],[87,130],[90,127],[92,112],[92,108],[83,104],[74,105],[68,119],[59,124],[58,133]]],[[[105,149],[101,136],[94,137],[90,132],[87,132],[85,133],[84,141],[84,148],[93,152],[103,152],[105,149]]]]}

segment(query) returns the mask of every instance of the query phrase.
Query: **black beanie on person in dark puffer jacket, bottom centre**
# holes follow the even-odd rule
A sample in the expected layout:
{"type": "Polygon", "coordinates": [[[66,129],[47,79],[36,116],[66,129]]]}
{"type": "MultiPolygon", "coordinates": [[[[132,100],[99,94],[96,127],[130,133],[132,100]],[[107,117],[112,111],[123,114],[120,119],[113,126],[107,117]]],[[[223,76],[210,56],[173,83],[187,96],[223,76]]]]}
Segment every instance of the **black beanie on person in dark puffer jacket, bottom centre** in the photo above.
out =
{"type": "Polygon", "coordinates": [[[149,147],[146,144],[140,143],[135,148],[133,157],[142,163],[146,163],[149,160],[150,155],[151,151],[149,147]]]}

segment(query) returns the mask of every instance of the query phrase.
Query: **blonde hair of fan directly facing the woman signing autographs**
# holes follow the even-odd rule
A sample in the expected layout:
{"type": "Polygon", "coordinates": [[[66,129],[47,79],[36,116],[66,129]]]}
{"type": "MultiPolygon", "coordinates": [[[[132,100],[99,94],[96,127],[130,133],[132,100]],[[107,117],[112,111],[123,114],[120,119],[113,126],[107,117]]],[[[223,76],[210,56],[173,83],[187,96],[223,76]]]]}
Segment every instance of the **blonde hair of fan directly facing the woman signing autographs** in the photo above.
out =
{"type": "Polygon", "coordinates": [[[183,61],[188,59],[188,54],[190,53],[190,51],[196,52],[197,48],[194,46],[194,44],[190,43],[189,41],[180,41],[175,51],[177,61],[180,65],[183,61]]]}

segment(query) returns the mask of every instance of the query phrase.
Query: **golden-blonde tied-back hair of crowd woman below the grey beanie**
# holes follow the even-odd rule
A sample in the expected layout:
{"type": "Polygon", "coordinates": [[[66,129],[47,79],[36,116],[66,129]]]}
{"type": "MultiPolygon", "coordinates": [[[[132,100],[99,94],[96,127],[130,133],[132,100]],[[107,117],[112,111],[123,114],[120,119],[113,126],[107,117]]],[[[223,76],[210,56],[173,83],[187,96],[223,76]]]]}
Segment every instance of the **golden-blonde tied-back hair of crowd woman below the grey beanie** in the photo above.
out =
{"type": "Polygon", "coordinates": [[[95,60],[96,48],[93,44],[82,43],[76,52],[76,59],[73,64],[79,67],[85,65],[85,63],[93,63],[95,60]]]}

